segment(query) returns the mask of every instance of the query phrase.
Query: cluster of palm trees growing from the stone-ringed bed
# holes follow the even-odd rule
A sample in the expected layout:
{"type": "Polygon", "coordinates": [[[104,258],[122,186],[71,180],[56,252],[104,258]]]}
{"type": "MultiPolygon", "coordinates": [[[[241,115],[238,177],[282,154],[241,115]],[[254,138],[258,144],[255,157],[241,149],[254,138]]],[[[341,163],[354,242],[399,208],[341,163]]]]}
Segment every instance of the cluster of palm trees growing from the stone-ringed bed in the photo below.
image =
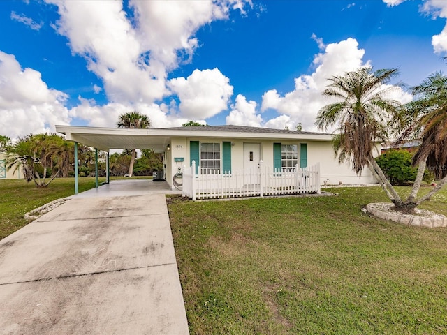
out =
{"type": "Polygon", "coordinates": [[[319,112],[316,124],[327,129],[337,123],[334,149],[339,161],[351,161],[358,175],[368,166],[381,183],[398,211],[413,212],[423,201],[447,183],[447,177],[439,181],[432,191],[420,199],[418,194],[427,157],[447,161],[447,77],[436,73],[423,84],[413,88],[418,99],[401,106],[397,101],[384,98],[388,89],[383,86],[397,75],[396,69],[376,70],[360,68],[344,76],[330,78],[325,96],[339,98],[339,102],[326,105],[319,112]],[[387,138],[388,128],[398,140],[421,137],[422,143],[413,156],[413,165],[418,165],[418,174],[411,193],[402,201],[388,179],[386,179],[372,149],[377,140],[387,138]]]}

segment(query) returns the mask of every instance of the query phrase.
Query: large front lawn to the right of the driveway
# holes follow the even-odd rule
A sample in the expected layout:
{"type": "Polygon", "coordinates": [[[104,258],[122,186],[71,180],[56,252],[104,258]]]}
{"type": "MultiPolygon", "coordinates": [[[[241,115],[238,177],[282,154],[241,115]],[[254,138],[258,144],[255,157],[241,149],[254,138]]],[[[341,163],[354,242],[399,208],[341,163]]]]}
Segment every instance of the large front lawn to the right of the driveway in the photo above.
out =
{"type": "MultiPolygon", "coordinates": [[[[339,195],[173,198],[191,334],[447,334],[447,228],[362,214],[387,201],[379,187],[331,191],[339,195]]],[[[447,214],[446,196],[424,207],[447,214]]]]}

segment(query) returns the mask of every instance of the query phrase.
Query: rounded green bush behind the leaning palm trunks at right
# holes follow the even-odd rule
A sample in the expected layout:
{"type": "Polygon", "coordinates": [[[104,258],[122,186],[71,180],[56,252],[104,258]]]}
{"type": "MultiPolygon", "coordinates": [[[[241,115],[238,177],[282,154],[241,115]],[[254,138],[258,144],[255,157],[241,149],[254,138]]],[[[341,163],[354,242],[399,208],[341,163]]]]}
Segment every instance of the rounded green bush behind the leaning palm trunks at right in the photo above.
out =
{"type": "Polygon", "coordinates": [[[377,164],[393,185],[404,185],[416,179],[418,168],[411,166],[411,154],[406,150],[390,150],[376,158],[377,164]]]}

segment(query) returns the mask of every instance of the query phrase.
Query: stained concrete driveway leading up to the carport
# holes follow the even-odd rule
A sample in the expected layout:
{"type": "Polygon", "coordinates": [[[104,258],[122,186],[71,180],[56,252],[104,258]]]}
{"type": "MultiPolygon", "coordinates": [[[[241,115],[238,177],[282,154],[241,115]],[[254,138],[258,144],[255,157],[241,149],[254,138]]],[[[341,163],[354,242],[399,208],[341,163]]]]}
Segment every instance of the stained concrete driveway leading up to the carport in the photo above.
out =
{"type": "Polygon", "coordinates": [[[189,334],[164,194],[102,192],[0,241],[0,334],[189,334]]]}

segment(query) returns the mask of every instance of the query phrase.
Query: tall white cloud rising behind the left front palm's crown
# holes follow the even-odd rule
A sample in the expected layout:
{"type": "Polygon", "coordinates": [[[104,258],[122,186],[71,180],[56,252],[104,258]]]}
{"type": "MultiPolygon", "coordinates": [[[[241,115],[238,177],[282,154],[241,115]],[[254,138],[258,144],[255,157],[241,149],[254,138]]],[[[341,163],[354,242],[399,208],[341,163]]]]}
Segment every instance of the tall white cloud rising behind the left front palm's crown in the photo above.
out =
{"type": "MultiPolygon", "coordinates": [[[[271,124],[276,128],[288,126],[293,129],[301,123],[303,131],[317,131],[314,126],[316,114],[321,107],[330,103],[330,100],[322,95],[328,84],[328,78],[333,75],[342,75],[360,66],[369,66],[369,61],[362,61],[364,54],[365,50],[358,49],[357,40],[353,38],[329,44],[325,52],[317,54],[314,58],[314,66],[316,66],[314,73],[295,78],[293,91],[284,96],[281,96],[276,89],[263,94],[261,111],[273,109],[281,114],[265,126],[271,124]]],[[[411,100],[411,96],[398,87],[391,94],[402,103],[411,100]]]]}

